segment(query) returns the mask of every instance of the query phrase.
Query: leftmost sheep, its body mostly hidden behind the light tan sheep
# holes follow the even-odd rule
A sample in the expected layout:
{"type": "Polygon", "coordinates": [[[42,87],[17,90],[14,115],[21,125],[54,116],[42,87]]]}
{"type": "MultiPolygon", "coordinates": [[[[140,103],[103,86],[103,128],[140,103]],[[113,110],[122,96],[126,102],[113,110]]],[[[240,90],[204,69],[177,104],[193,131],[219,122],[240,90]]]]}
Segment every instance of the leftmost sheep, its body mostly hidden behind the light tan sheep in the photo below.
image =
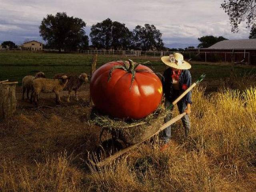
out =
{"type": "MultiPolygon", "coordinates": [[[[24,94],[26,91],[27,91],[27,99],[30,99],[29,92],[30,92],[30,90],[33,92],[32,83],[33,83],[33,80],[35,80],[36,78],[45,78],[45,75],[43,72],[38,72],[38,73],[36,73],[36,75],[34,77],[31,75],[28,75],[22,79],[22,100],[24,100],[24,94]]],[[[30,97],[32,97],[32,93],[31,93],[30,97]]]]}

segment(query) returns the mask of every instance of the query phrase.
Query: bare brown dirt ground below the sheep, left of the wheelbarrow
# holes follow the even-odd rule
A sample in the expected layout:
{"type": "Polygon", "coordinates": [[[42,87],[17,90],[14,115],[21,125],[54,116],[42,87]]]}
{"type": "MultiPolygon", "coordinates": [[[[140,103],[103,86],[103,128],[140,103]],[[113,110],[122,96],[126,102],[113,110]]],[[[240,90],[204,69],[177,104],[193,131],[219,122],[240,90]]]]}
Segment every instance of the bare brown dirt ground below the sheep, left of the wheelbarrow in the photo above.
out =
{"type": "Polygon", "coordinates": [[[79,101],[72,92],[70,103],[66,102],[67,92],[61,92],[59,106],[55,104],[54,93],[41,93],[38,108],[29,100],[23,101],[22,88],[17,87],[17,111],[13,118],[0,122],[0,162],[31,166],[66,151],[76,156],[75,164],[83,164],[88,152],[95,151],[100,144],[101,131],[88,121],[88,87],[86,84],[80,88],[79,101]]]}

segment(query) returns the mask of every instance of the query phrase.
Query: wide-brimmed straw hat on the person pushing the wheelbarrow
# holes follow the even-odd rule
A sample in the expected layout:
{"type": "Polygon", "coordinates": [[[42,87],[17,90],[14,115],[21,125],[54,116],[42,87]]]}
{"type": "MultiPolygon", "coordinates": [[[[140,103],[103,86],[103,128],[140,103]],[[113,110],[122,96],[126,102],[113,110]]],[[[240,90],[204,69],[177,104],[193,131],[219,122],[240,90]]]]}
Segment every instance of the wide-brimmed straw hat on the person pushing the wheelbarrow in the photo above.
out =
{"type": "Polygon", "coordinates": [[[164,64],[176,68],[176,69],[190,69],[191,65],[183,60],[183,55],[180,53],[174,53],[171,54],[170,56],[167,57],[162,57],[161,58],[162,62],[164,62],[164,64]]]}

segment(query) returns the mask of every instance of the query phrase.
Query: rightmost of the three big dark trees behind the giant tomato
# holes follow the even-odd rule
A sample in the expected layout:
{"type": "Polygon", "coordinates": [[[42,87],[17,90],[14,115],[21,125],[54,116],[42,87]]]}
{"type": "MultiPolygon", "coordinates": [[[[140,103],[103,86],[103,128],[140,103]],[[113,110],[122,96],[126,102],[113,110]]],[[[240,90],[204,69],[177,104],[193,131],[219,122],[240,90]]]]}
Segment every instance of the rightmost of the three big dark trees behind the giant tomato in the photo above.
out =
{"type": "Polygon", "coordinates": [[[133,30],[134,47],[141,50],[162,50],[164,43],[162,33],[154,25],[136,26],[133,30]]]}

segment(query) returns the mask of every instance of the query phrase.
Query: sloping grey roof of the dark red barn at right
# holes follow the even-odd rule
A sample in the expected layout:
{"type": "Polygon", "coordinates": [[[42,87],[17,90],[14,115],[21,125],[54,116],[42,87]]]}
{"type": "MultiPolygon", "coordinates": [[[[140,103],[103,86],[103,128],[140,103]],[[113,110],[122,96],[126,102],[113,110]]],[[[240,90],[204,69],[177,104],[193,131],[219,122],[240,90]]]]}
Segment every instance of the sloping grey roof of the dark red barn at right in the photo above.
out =
{"type": "Polygon", "coordinates": [[[223,40],[208,49],[256,49],[256,39],[223,40]]]}

